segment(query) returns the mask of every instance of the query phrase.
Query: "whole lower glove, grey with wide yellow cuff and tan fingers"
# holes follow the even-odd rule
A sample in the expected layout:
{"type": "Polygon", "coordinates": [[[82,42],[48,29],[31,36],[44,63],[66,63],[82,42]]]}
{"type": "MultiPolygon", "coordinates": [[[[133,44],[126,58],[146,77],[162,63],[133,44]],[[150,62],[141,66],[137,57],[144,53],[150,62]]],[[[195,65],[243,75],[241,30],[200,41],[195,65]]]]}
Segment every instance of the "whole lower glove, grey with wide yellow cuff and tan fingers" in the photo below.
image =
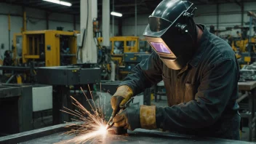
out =
{"type": "Polygon", "coordinates": [[[114,127],[156,129],[156,106],[132,105],[113,118],[114,127]]]}

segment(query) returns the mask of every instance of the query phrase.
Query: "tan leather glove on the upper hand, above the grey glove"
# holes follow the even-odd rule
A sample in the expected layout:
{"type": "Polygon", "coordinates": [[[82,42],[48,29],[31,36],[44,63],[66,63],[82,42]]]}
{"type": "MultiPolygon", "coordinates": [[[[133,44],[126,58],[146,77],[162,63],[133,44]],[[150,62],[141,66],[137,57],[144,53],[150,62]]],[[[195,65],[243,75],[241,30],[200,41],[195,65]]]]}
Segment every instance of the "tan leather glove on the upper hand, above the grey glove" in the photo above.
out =
{"type": "Polygon", "coordinates": [[[132,98],[133,92],[127,85],[122,85],[117,88],[116,93],[111,97],[111,107],[113,109],[112,115],[116,115],[121,108],[132,98]]]}

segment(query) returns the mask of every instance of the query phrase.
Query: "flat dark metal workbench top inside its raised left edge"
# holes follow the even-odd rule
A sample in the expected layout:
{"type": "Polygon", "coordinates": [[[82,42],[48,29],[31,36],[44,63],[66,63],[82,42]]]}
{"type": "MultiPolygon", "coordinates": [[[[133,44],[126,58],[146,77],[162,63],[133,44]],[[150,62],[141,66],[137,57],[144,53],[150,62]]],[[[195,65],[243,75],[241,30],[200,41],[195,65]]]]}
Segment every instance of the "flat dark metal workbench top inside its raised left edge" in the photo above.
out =
{"type": "MultiPolygon", "coordinates": [[[[54,135],[49,135],[47,137],[41,137],[36,140],[30,140],[22,144],[46,144],[46,143],[58,143],[63,140],[70,140],[73,136],[63,136],[62,133],[57,133],[54,135]]],[[[174,135],[168,132],[159,132],[159,131],[149,131],[145,129],[137,129],[134,132],[129,132],[128,136],[124,135],[110,135],[103,139],[98,137],[93,141],[88,141],[87,143],[175,143],[175,144],[248,144],[249,142],[243,142],[238,140],[223,140],[217,138],[209,137],[191,137],[191,136],[182,136],[174,135]]]]}

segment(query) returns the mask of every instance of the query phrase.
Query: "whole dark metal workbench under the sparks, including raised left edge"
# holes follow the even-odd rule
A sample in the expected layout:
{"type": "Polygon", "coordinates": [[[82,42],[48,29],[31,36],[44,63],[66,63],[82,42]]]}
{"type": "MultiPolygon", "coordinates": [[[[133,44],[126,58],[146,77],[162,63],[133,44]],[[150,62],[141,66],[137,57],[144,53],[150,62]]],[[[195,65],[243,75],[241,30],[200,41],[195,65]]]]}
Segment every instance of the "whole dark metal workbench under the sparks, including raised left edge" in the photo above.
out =
{"type": "MultiPolygon", "coordinates": [[[[29,132],[23,132],[16,135],[0,137],[0,143],[21,143],[21,144],[46,144],[58,143],[63,140],[70,140],[73,135],[61,135],[67,128],[67,124],[59,124],[43,129],[36,129],[29,132]]],[[[210,137],[195,137],[191,135],[179,135],[170,132],[160,132],[156,130],[136,129],[128,131],[129,135],[111,135],[103,139],[99,137],[87,143],[176,143],[176,144],[249,144],[252,142],[244,142],[239,140],[225,140],[210,137]]]]}

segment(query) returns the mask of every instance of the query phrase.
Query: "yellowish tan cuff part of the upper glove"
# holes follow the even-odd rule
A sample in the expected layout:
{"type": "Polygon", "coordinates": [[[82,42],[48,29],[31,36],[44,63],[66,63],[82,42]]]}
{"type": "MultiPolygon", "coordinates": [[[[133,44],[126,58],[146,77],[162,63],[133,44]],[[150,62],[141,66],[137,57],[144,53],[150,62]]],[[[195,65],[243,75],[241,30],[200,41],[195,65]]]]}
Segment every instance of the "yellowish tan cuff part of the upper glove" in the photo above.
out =
{"type": "Polygon", "coordinates": [[[116,89],[116,93],[113,96],[121,96],[125,99],[130,99],[133,97],[132,89],[127,85],[121,85],[116,89]]]}

